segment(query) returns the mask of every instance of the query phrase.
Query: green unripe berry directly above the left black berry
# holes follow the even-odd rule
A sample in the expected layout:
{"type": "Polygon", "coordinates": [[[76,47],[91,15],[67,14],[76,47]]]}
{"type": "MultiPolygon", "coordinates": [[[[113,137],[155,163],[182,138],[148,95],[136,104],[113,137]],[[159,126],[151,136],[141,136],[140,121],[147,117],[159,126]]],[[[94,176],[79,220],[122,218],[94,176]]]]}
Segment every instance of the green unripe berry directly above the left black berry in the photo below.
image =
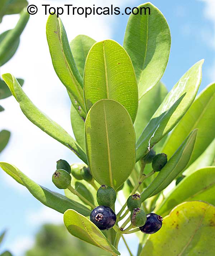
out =
{"type": "Polygon", "coordinates": [[[99,205],[111,207],[116,201],[116,192],[111,186],[101,185],[97,190],[96,198],[99,205]]]}

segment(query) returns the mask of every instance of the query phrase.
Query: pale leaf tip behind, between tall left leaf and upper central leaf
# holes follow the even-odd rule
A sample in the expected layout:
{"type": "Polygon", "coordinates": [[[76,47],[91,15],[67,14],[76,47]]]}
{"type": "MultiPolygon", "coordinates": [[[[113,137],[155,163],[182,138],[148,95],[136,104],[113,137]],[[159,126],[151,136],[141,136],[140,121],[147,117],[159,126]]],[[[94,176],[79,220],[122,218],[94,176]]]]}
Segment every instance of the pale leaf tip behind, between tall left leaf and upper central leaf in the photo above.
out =
{"type": "Polygon", "coordinates": [[[84,65],[90,48],[96,41],[87,35],[77,35],[71,42],[70,47],[80,75],[83,77],[84,65]]]}

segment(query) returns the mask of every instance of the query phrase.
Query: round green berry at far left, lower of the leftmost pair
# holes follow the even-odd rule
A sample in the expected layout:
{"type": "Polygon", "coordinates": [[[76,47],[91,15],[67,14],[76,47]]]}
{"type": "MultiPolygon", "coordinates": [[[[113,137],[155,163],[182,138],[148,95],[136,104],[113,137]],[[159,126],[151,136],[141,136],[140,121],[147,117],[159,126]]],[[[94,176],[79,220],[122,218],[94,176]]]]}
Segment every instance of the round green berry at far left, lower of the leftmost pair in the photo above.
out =
{"type": "Polygon", "coordinates": [[[58,189],[67,189],[71,184],[71,176],[67,171],[60,169],[52,175],[52,182],[58,189]]]}

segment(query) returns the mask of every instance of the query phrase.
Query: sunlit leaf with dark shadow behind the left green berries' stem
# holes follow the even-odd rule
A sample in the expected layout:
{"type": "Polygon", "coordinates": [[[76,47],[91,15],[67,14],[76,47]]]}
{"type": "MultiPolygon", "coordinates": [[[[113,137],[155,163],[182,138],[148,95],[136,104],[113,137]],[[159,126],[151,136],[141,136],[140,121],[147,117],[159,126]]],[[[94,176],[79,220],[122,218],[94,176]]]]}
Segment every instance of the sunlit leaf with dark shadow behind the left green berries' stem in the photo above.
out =
{"type": "MultiPolygon", "coordinates": [[[[72,176],[71,186],[73,188],[75,188],[78,191],[78,193],[80,193],[82,196],[84,196],[92,204],[96,203],[96,192],[97,191],[87,181],[77,180],[75,177],[72,176]]],[[[85,202],[83,202],[77,195],[74,195],[69,189],[65,189],[65,195],[69,199],[72,199],[81,204],[85,204],[85,202]]],[[[85,206],[87,208],[91,209],[91,207],[88,204],[85,204],[85,206]]]]}

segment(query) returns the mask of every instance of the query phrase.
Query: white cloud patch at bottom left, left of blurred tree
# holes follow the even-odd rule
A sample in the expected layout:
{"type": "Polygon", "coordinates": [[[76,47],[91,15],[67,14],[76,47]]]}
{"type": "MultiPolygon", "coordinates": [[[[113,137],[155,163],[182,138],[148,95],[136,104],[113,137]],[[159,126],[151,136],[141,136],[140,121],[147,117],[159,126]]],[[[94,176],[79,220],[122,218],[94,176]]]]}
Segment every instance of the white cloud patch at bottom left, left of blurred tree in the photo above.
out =
{"type": "Polygon", "coordinates": [[[23,256],[24,252],[34,245],[34,238],[29,236],[19,236],[11,244],[11,253],[16,256],[23,256]]]}

